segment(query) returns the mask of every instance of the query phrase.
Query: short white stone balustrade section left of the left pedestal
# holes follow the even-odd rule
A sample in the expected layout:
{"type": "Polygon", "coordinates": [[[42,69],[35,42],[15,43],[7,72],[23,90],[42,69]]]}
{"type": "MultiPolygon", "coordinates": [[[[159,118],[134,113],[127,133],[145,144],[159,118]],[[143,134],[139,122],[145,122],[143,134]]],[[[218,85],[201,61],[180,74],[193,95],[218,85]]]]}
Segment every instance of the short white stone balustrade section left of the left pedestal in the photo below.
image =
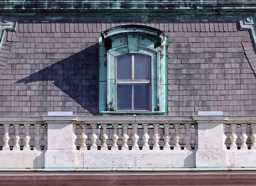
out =
{"type": "Polygon", "coordinates": [[[0,169],[44,168],[47,145],[40,130],[47,124],[41,117],[0,117],[0,125],[4,129],[0,169]]]}

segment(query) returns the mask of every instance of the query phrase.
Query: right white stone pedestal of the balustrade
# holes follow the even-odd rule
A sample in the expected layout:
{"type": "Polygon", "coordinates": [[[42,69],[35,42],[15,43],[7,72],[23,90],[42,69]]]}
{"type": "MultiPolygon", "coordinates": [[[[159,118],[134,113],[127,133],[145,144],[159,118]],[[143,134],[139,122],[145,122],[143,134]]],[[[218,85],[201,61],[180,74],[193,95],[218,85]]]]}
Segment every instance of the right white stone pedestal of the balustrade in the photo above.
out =
{"type": "Polygon", "coordinates": [[[198,123],[198,150],[195,155],[197,168],[227,167],[227,153],[223,144],[225,115],[194,115],[198,123]]]}

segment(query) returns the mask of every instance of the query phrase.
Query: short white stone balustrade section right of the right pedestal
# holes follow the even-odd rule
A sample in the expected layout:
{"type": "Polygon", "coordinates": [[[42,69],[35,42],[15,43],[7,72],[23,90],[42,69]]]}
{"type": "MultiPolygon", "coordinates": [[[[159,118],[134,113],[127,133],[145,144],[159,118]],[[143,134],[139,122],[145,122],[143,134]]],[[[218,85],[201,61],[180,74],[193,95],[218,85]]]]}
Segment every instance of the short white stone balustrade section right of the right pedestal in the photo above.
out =
{"type": "Polygon", "coordinates": [[[227,167],[256,167],[255,120],[255,116],[230,116],[225,122],[226,129],[230,128],[230,130],[227,130],[224,135],[230,136],[231,143],[226,143],[227,167]],[[241,142],[237,139],[238,137],[241,142]]]}

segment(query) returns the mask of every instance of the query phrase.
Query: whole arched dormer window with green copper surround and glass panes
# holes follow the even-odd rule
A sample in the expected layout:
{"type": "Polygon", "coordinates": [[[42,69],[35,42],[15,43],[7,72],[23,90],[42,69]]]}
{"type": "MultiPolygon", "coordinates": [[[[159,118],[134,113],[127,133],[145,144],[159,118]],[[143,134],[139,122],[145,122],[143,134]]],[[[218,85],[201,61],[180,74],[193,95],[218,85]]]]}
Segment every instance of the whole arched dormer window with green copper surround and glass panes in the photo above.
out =
{"type": "Polygon", "coordinates": [[[117,26],[99,39],[99,114],[167,114],[167,43],[163,31],[117,26]]]}

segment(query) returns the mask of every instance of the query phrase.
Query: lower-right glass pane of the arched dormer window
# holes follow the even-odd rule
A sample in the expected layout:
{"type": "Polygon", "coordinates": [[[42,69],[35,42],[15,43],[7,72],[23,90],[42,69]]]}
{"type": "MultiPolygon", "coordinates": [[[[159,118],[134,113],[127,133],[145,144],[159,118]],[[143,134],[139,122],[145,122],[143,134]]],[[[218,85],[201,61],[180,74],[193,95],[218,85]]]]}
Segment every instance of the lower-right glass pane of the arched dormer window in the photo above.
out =
{"type": "Polygon", "coordinates": [[[150,110],[150,86],[134,85],[134,110],[150,110]]]}

